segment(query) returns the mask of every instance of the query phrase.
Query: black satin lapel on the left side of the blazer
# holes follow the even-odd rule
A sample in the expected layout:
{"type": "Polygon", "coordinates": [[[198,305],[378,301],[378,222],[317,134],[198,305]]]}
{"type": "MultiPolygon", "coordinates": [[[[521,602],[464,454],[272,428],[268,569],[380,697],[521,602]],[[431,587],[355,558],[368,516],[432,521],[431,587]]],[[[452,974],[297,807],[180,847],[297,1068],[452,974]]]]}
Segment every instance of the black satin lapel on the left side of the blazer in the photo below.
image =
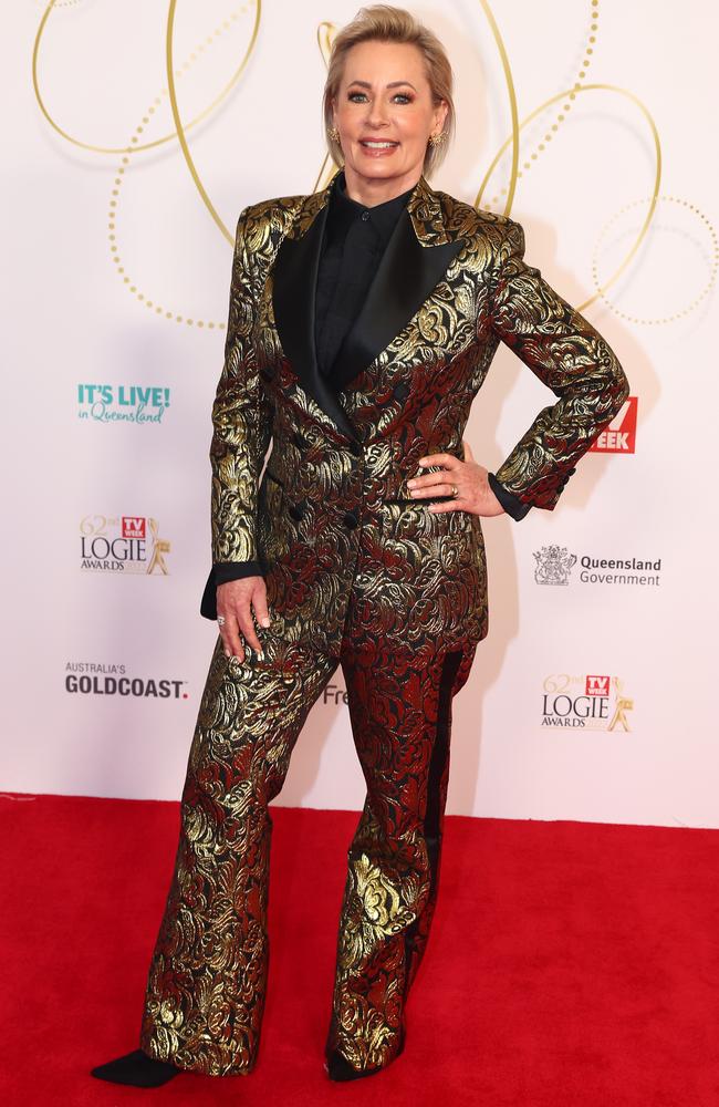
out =
{"type": "Polygon", "coordinates": [[[341,406],[336,393],[317,368],[314,342],[315,292],[327,209],[329,205],[325,204],[301,238],[285,235],[280,244],[272,272],[274,322],[282,349],[302,387],[344,435],[358,441],[357,432],[341,406]]]}

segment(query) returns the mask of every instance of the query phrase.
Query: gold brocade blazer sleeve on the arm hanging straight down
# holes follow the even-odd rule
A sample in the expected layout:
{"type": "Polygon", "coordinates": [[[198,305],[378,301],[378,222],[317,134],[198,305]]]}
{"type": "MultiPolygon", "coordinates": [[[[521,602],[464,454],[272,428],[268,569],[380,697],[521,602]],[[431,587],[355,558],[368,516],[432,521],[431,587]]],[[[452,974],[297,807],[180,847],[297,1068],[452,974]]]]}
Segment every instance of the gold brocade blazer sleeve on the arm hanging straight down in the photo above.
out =
{"type": "MultiPolygon", "coordinates": [[[[252,324],[250,208],[240,213],[235,238],[225,363],[212,404],[212,561],[231,579],[231,565],[258,562],[257,496],[270,444],[272,410],[258,372],[252,324]]],[[[218,581],[219,582],[219,581],[218,581]]]]}

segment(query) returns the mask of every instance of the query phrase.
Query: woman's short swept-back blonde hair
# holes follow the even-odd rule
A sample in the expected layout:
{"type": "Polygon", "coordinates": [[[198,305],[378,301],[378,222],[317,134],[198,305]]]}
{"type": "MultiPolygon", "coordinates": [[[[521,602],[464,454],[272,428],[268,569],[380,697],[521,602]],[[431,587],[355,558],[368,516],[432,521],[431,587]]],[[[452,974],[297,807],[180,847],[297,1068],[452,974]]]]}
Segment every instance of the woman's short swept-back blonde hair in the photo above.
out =
{"type": "Polygon", "coordinates": [[[437,168],[442,162],[447,147],[455,133],[455,102],[452,100],[452,70],[441,42],[424,23],[404,8],[393,8],[388,3],[373,3],[361,8],[352,22],[342,28],[332,44],[327,79],[322,97],[324,127],[330,155],[335,165],[343,165],[342,146],[331,138],[327,131],[332,127],[332,101],[340,91],[340,82],[344,72],[347,53],[358,42],[409,42],[417,46],[427,68],[427,77],[431,89],[433,100],[438,104],[447,103],[447,115],[442,126],[445,141],[437,146],[427,143],[427,152],[423,173],[425,176],[437,168]]]}

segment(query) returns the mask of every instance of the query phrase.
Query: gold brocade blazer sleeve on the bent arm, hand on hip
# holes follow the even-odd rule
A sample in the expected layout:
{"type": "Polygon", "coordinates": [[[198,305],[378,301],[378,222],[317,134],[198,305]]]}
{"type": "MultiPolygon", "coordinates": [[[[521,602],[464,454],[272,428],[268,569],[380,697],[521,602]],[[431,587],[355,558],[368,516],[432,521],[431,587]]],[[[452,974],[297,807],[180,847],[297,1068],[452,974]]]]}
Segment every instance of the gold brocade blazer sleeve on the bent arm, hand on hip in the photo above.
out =
{"type": "Polygon", "coordinates": [[[491,273],[491,325],[558,400],[539,412],[494,477],[522,504],[553,510],[629,383],[598,331],[523,260],[521,225],[506,224],[491,273]]]}

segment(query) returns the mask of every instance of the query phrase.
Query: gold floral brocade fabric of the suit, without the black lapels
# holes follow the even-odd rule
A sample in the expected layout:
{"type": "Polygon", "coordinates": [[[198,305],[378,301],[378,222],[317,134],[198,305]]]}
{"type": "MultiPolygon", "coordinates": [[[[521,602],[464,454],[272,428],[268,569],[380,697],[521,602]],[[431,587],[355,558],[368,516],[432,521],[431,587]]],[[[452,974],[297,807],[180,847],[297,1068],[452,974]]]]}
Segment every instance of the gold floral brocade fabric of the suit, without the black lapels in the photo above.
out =
{"type": "MultiPolygon", "coordinates": [[[[418,242],[462,240],[429,297],[338,393],[357,441],[303,386],[275,325],[273,263],[329,187],[244,209],[212,408],[212,557],[259,560],[263,659],[221,642],[180,805],[175,872],[148,974],[140,1045],[212,1075],[248,1073],[268,973],[270,800],[312,704],[344,672],[367,796],[348,849],[326,1049],[388,1064],[438,889],[452,696],[488,632],[480,519],[433,514],[406,486],[420,457],[461,456],[500,341],[553,390],[497,477],[553,509],[627,394],[607,343],[523,260],[519,224],[420,178],[418,242]],[[264,472],[265,455],[272,451],[264,472]]],[[[301,955],[301,951],[298,951],[301,955]]]]}

